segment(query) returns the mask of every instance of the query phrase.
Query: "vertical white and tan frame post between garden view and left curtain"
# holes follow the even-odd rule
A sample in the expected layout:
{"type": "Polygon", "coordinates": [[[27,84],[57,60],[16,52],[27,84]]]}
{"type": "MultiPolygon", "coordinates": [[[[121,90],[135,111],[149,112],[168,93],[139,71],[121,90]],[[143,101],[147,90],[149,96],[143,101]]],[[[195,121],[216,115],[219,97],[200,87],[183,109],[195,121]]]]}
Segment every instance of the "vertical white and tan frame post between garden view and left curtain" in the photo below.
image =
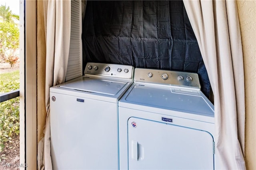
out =
{"type": "Polygon", "coordinates": [[[20,170],[37,169],[36,1],[20,0],[20,170]]]}

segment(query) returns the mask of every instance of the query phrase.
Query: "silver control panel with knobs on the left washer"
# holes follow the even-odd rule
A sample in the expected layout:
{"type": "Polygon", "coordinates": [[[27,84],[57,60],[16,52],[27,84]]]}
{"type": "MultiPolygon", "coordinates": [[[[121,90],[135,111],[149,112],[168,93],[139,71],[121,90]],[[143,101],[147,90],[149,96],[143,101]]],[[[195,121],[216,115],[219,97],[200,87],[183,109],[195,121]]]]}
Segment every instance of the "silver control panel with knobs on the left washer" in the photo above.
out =
{"type": "Polygon", "coordinates": [[[84,74],[132,79],[134,67],[122,64],[87,63],[84,74]]]}

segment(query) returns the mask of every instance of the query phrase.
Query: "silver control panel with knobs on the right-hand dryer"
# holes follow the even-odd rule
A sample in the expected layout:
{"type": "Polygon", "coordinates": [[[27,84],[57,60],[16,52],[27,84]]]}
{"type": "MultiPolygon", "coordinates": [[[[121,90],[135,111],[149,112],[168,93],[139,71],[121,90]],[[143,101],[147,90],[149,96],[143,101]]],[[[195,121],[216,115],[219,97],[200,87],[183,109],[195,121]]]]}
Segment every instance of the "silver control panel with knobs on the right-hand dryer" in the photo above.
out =
{"type": "Polygon", "coordinates": [[[197,73],[135,68],[134,82],[201,88],[197,73]]]}

